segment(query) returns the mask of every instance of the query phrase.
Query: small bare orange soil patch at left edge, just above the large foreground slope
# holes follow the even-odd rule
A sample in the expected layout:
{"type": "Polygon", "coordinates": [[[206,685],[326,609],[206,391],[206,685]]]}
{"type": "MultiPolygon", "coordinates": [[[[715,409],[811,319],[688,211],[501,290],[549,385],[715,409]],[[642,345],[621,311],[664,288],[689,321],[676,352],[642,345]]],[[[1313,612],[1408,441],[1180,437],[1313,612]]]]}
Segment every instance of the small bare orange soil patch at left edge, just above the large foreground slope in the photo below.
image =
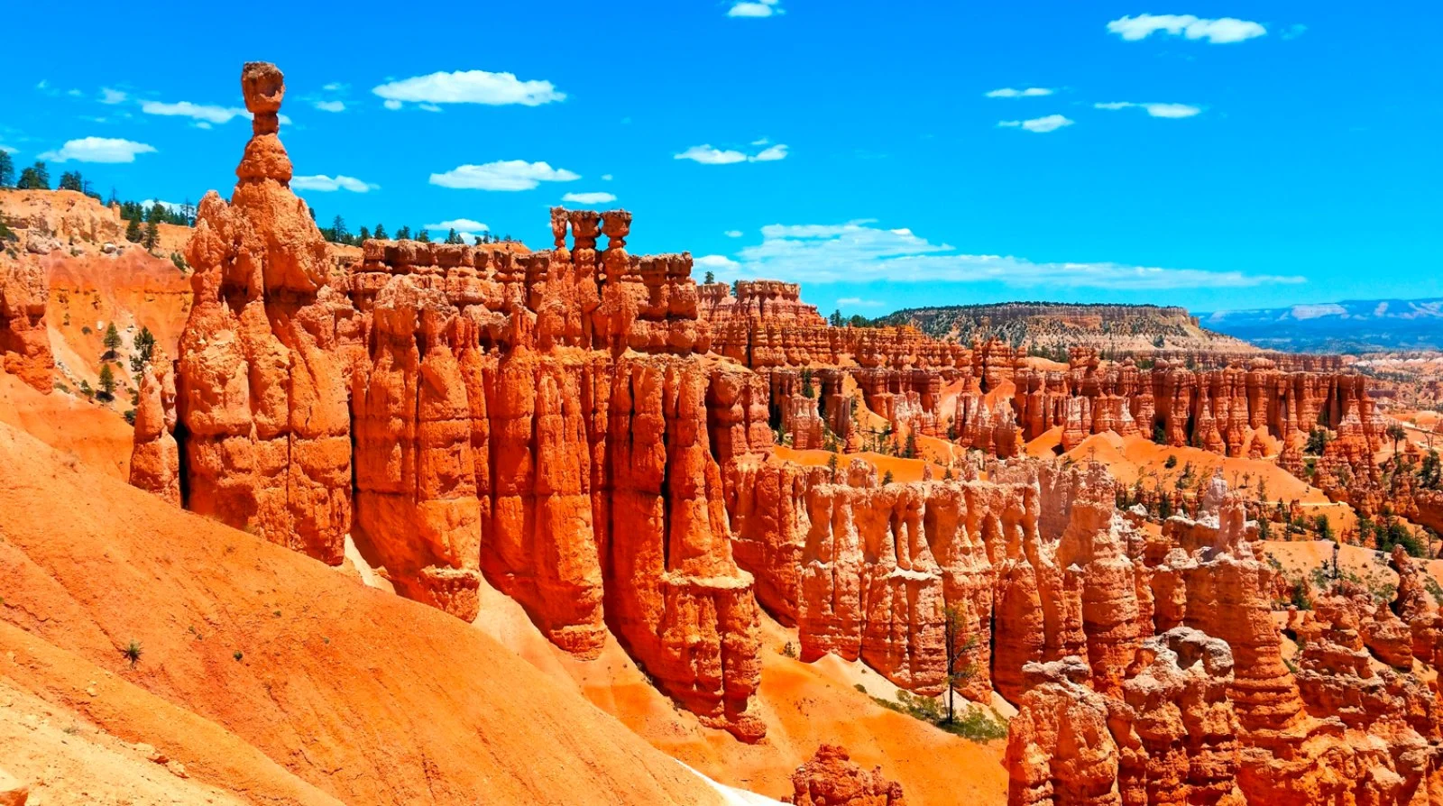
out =
{"type": "Polygon", "coordinates": [[[19,428],[114,479],[130,479],[131,427],[126,420],[59,389],[49,395],[0,372],[0,422],[19,428]]]}

